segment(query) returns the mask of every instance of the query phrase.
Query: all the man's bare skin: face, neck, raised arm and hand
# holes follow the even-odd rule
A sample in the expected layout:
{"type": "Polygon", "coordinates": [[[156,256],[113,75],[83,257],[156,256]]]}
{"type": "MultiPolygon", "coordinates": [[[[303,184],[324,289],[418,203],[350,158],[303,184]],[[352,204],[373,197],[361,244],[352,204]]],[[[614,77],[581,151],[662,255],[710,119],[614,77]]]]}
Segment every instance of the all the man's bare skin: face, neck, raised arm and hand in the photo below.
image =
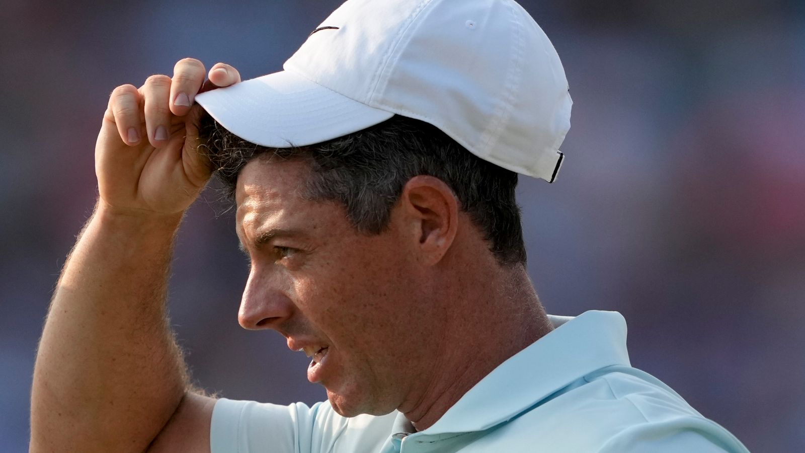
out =
{"type": "MultiPolygon", "coordinates": [[[[210,177],[193,126],[204,73],[180,60],[174,77],[109,98],[97,208],[39,343],[30,451],[209,451],[215,400],[190,386],[165,309],[175,233],[210,177]]],[[[216,64],[209,79],[240,76],[216,64]]],[[[258,159],[238,178],[251,258],[238,320],[278,330],[292,349],[328,346],[321,384],[339,414],[398,409],[423,430],[551,330],[525,268],[497,264],[444,182],[412,178],[388,229],[362,235],[343,207],[300,196],[307,172],[301,160],[258,159]]]]}

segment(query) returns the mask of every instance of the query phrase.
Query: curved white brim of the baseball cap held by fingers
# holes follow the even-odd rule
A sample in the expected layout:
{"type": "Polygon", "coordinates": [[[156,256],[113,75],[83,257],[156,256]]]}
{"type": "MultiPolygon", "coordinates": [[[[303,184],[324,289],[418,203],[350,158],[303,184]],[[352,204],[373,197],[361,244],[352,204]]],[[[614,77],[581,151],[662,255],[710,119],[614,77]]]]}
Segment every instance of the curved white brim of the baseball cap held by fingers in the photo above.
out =
{"type": "Polygon", "coordinates": [[[196,102],[234,135],[271,148],[336,139],[394,116],[288,71],[197,94],[196,102]]]}

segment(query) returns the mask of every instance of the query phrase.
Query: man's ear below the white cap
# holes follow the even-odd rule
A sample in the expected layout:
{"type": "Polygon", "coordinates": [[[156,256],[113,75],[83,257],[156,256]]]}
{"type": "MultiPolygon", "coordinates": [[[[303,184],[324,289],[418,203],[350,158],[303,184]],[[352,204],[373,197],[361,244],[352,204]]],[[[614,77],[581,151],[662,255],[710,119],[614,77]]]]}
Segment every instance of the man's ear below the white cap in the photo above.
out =
{"type": "Polygon", "coordinates": [[[447,253],[458,230],[458,199],[436,177],[412,177],[399,198],[411,242],[422,264],[438,263],[447,253]]]}

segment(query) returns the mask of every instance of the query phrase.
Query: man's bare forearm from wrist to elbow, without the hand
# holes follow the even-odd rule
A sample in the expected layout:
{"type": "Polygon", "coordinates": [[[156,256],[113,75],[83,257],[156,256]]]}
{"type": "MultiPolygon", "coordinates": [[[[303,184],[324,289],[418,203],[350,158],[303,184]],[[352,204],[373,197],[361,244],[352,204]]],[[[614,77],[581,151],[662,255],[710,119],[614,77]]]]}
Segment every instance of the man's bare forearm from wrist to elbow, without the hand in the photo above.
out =
{"type": "Polygon", "coordinates": [[[31,451],[144,451],[187,382],[165,294],[179,216],[99,209],[60,277],[39,343],[31,451]]]}

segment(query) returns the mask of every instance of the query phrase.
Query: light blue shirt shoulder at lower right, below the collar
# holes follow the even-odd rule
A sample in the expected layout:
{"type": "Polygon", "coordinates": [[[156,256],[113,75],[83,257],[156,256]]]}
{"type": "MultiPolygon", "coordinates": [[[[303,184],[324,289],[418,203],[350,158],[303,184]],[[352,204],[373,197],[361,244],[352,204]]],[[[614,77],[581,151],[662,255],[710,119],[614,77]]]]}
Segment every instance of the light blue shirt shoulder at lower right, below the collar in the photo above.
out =
{"type": "Polygon", "coordinates": [[[546,451],[746,452],[667,385],[625,366],[572,382],[499,431],[503,443],[538,443],[546,451]]]}

